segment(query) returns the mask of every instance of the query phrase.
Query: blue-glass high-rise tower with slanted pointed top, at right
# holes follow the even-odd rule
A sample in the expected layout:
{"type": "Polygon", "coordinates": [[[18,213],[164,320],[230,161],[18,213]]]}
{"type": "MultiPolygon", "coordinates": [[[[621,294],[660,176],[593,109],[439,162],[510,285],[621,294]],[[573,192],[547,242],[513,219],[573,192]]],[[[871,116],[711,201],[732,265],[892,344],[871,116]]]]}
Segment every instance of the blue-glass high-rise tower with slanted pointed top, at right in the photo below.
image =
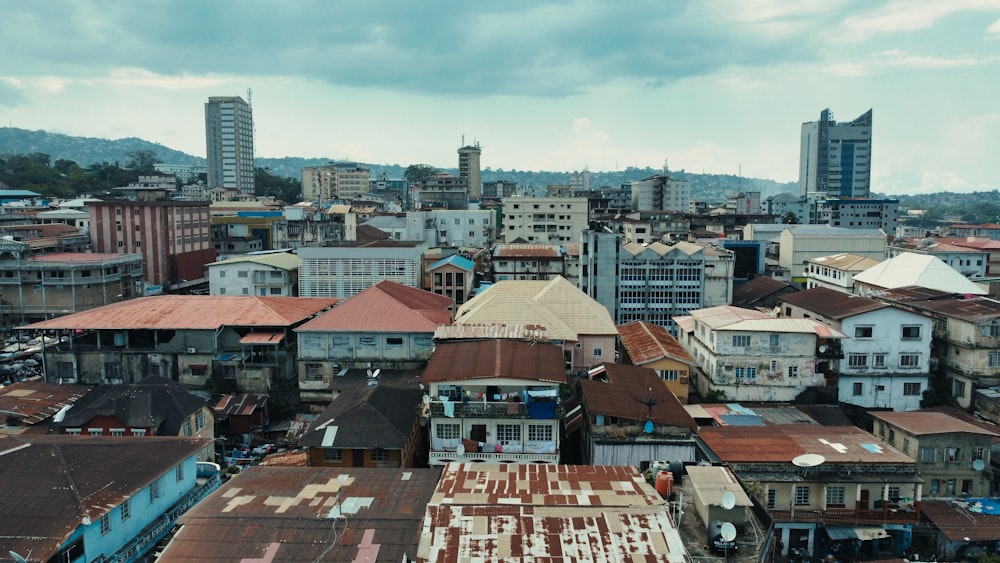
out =
{"type": "Polygon", "coordinates": [[[819,121],[802,124],[799,195],[809,201],[827,197],[869,197],[871,192],[872,110],[837,123],[824,109],[819,121]]]}

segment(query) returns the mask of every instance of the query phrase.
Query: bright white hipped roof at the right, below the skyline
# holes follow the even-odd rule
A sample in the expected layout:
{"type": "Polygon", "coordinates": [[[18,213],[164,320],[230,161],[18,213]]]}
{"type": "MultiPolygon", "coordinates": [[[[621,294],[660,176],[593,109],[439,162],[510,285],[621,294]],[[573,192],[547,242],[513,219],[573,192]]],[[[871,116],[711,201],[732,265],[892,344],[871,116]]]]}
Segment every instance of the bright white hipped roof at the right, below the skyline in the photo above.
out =
{"type": "Polygon", "coordinates": [[[885,289],[918,285],[949,293],[986,295],[988,292],[945,264],[937,256],[903,252],[854,276],[860,282],[885,289]]]}

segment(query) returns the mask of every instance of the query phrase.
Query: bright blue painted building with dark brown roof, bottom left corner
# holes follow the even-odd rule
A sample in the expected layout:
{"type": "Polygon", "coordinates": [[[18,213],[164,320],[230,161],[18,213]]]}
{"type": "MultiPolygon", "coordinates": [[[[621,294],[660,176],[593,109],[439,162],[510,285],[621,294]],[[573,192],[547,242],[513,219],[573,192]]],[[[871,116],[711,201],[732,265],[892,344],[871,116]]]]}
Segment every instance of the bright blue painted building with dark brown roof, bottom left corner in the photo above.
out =
{"type": "Polygon", "coordinates": [[[0,438],[0,553],[67,563],[139,560],[219,486],[218,466],[197,461],[206,442],[0,438]]]}

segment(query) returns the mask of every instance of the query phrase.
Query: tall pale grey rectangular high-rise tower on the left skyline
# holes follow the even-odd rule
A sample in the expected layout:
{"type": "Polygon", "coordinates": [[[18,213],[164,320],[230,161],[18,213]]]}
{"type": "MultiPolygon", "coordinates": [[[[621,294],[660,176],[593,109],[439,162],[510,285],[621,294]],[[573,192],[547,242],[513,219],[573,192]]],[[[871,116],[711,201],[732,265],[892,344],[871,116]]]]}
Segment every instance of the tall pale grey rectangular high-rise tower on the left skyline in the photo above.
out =
{"type": "Polygon", "coordinates": [[[239,96],[212,96],[205,104],[208,187],[254,193],[253,112],[239,96]]]}

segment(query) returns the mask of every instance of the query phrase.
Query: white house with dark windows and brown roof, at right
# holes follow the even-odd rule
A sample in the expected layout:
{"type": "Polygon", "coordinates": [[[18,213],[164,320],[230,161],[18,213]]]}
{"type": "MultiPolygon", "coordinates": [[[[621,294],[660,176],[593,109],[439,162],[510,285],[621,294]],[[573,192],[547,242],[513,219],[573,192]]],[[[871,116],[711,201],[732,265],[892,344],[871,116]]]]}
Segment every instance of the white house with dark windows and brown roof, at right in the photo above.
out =
{"type": "Polygon", "coordinates": [[[896,411],[920,408],[930,380],[930,318],[827,288],[785,295],[781,311],[847,335],[838,357],[817,364],[837,382],[840,402],[896,411]]]}

